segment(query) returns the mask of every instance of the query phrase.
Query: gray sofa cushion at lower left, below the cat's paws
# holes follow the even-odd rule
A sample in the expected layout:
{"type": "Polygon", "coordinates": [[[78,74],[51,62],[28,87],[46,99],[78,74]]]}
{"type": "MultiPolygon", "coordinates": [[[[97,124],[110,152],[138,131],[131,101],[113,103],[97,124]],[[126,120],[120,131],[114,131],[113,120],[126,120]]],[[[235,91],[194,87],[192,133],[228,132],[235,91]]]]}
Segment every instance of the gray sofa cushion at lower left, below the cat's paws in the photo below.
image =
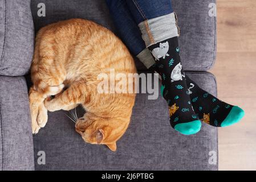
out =
{"type": "Polygon", "coordinates": [[[0,169],[34,170],[34,147],[24,77],[0,76],[0,169]]]}

